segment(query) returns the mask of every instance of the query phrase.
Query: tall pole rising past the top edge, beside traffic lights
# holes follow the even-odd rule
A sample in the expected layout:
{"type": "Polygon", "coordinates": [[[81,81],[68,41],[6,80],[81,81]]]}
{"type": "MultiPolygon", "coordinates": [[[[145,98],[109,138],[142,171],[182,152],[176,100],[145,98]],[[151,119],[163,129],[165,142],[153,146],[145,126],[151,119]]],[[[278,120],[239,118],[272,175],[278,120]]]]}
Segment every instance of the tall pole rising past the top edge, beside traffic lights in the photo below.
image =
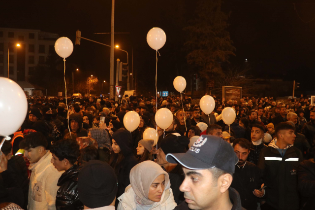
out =
{"type": "Polygon", "coordinates": [[[109,73],[110,99],[114,98],[114,13],[115,13],[115,0],[112,0],[112,23],[111,23],[111,31],[110,31],[110,73],[109,73]]]}

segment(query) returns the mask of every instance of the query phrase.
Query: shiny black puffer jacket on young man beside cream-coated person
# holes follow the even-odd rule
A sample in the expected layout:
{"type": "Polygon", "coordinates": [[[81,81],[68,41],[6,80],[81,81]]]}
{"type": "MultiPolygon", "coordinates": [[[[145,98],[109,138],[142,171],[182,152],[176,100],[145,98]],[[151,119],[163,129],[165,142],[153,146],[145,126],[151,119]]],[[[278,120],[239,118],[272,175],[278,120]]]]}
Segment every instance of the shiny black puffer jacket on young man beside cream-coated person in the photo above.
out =
{"type": "Polygon", "coordinates": [[[56,196],[57,210],[83,209],[83,204],[79,200],[78,194],[79,171],[79,165],[75,164],[60,176],[57,183],[57,186],[60,186],[56,196]]]}

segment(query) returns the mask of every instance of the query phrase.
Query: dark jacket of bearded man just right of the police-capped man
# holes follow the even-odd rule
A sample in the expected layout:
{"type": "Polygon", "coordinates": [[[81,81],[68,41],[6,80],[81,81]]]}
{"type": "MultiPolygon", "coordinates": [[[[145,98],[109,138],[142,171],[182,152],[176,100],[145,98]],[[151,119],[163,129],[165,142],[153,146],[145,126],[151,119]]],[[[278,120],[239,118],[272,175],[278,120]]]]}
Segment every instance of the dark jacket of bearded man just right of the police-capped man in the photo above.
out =
{"type": "Polygon", "coordinates": [[[262,183],[262,172],[254,164],[247,161],[243,167],[235,166],[231,187],[240,194],[245,209],[257,210],[258,197],[252,192],[260,189],[262,183]]]}

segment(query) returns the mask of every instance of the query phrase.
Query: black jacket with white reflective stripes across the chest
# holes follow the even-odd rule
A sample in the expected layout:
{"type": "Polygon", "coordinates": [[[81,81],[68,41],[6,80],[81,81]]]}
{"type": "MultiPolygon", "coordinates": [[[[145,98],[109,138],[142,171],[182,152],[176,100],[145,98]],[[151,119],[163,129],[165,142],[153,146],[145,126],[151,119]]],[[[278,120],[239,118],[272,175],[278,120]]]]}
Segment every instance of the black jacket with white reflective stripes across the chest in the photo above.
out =
{"type": "Polygon", "coordinates": [[[279,210],[298,210],[300,199],[297,190],[297,170],[303,161],[301,151],[291,146],[284,156],[272,147],[261,150],[258,167],[263,172],[267,187],[266,203],[279,210]]]}

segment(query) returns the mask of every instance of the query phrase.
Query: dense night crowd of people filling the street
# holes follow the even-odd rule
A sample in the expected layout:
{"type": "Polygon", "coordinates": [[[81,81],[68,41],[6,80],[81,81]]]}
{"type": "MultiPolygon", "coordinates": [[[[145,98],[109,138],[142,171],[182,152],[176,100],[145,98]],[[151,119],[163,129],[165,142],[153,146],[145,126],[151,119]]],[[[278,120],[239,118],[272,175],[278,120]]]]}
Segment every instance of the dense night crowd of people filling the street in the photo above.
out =
{"type": "Polygon", "coordinates": [[[25,122],[1,147],[0,208],[314,210],[308,97],[214,99],[206,115],[187,96],[28,98],[25,122]],[[235,110],[231,125],[225,107],[235,110]],[[173,113],[165,130],[157,108],[173,113]],[[132,132],[123,123],[128,111],[140,116],[132,132]],[[148,128],[158,141],[143,139],[148,128]]]}

